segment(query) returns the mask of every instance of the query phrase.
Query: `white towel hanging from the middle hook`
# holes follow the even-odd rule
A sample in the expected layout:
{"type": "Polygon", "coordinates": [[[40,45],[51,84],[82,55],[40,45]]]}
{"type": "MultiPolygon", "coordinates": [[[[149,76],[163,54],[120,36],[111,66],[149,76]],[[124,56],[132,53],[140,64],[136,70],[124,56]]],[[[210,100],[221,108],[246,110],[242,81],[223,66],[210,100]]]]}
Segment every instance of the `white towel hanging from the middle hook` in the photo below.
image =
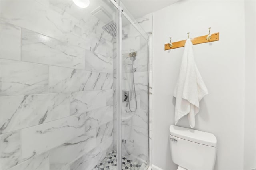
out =
{"type": "Polygon", "coordinates": [[[199,111],[199,101],[207,94],[207,88],[194,61],[193,44],[190,39],[187,39],[180,75],[174,91],[174,97],[176,97],[175,125],[180,118],[188,114],[190,127],[193,128],[195,116],[199,111]]]}

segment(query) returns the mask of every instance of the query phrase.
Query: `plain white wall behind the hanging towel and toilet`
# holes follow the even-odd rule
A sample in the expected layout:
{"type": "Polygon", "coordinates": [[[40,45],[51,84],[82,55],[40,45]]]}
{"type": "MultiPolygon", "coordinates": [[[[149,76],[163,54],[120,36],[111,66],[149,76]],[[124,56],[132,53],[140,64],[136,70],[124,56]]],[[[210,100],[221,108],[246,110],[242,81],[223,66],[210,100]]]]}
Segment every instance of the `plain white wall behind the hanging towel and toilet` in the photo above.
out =
{"type": "MultiPolygon", "coordinates": [[[[164,44],[220,32],[220,41],[194,46],[194,56],[209,94],[200,102],[195,129],[218,139],[215,170],[242,170],[245,105],[244,1],[180,1],[154,12],[152,163],[176,170],[169,148],[174,124],[174,87],[184,48],[164,51],[164,44]]],[[[179,126],[189,127],[187,117],[179,126]]]]}

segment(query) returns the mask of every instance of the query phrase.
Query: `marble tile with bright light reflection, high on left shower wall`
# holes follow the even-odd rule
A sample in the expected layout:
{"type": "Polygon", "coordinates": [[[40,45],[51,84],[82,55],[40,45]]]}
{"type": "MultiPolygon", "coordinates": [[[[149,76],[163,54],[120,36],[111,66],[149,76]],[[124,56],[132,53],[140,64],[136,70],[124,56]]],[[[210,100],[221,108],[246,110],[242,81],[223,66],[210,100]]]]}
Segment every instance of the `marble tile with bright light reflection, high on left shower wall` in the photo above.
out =
{"type": "Polygon", "coordinates": [[[85,49],[22,29],[22,61],[84,69],[85,49]]]}

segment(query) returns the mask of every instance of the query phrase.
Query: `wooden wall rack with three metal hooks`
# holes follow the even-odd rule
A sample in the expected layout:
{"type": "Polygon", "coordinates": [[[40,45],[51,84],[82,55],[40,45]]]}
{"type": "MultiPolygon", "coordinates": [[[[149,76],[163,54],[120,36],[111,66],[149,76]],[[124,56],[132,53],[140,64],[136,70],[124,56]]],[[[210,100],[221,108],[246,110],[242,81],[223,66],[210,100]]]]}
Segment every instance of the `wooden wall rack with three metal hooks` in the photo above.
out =
{"type": "MultiPolygon", "coordinates": [[[[220,33],[217,32],[217,33],[214,33],[214,34],[210,34],[210,27],[208,29],[209,29],[209,34],[208,35],[195,37],[195,38],[190,39],[191,42],[193,43],[193,45],[200,44],[200,43],[214,42],[214,41],[219,40],[220,33]]],[[[189,32],[188,32],[188,38],[189,38],[189,32]]],[[[171,42],[171,37],[170,37],[170,43],[164,44],[164,50],[184,47],[185,43],[186,43],[186,40],[182,40],[182,41],[172,43],[171,42]]]]}

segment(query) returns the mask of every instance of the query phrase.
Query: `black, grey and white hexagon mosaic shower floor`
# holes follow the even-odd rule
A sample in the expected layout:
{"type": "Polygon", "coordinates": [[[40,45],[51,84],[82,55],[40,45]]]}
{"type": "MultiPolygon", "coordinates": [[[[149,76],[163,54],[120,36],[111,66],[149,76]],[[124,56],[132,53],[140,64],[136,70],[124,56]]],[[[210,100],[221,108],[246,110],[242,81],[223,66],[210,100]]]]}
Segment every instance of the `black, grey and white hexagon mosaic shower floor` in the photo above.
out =
{"type": "MultiPolygon", "coordinates": [[[[93,170],[116,170],[116,151],[112,151],[93,170]]],[[[139,170],[140,164],[122,157],[122,170],[139,170]]]]}

